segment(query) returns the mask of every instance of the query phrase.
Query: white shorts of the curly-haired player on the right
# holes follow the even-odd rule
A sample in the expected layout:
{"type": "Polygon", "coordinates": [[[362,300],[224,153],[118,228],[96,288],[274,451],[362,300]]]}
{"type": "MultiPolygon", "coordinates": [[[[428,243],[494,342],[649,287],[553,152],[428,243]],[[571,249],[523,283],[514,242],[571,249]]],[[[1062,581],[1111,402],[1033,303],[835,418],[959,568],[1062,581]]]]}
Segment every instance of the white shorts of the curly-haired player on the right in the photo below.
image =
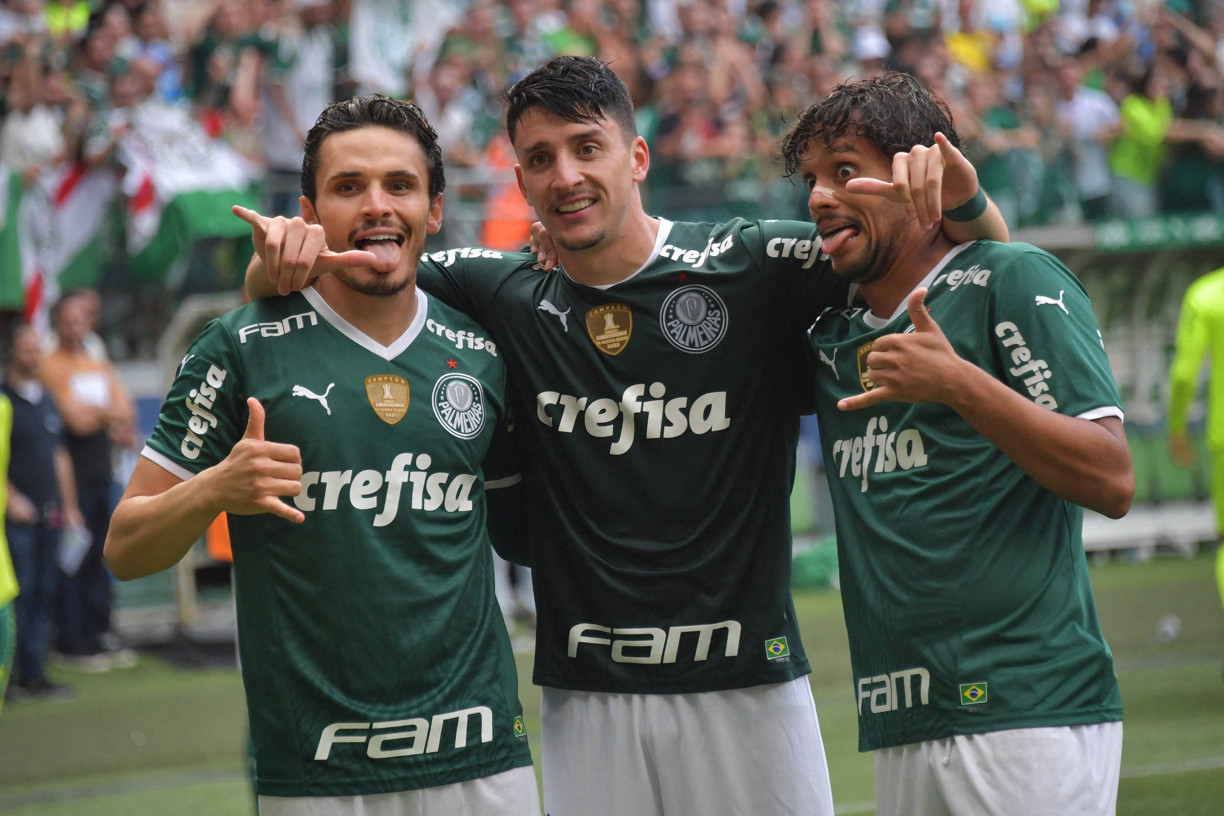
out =
{"type": "Polygon", "coordinates": [[[875,751],[876,816],[1114,816],[1122,724],[1018,728],[875,751]]]}

